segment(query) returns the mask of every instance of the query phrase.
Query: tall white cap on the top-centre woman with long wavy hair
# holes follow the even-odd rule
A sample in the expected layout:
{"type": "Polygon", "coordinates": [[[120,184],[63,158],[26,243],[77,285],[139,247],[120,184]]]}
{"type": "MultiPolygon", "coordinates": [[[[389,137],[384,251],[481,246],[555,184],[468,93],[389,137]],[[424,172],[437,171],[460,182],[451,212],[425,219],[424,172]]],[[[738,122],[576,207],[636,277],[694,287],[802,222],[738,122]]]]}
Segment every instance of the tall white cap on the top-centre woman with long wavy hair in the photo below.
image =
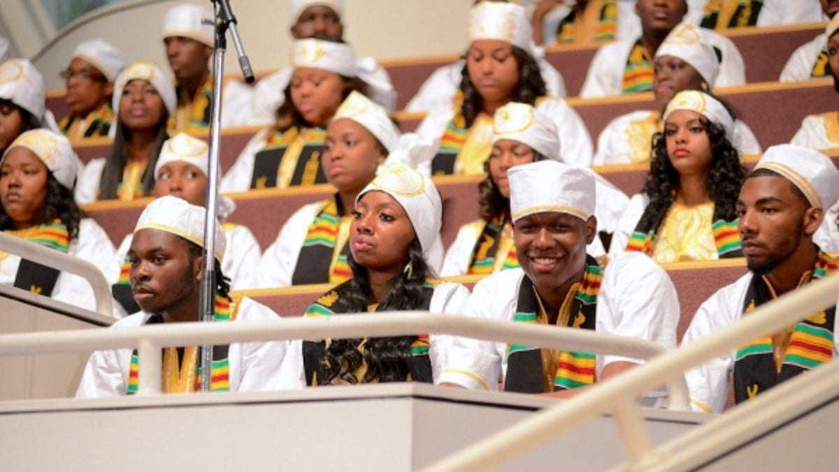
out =
{"type": "Polygon", "coordinates": [[[521,5],[505,2],[478,3],[469,11],[469,42],[500,39],[533,54],[533,28],[521,5]]]}

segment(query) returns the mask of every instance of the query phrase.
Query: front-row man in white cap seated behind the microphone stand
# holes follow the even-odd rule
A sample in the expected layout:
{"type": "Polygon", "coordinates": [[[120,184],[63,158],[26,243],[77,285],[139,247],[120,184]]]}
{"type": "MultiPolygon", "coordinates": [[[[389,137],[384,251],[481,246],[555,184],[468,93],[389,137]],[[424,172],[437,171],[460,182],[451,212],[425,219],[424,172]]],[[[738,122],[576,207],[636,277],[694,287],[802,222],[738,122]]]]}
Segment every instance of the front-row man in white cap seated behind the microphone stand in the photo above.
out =
{"type": "MultiPolygon", "coordinates": [[[[143,210],[128,252],[132,260],[132,291],[143,311],[122,318],[112,328],[201,319],[205,218],[204,208],[178,197],[158,198],[143,210]],[[159,264],[161,259],[166,263],[159,264]]],[[[228,296],[230,287],[223,281],[220,265],[225,239],[217,227],[215,239],[216,323],[272,320],[281,323],[276,313],[248,297],[232,307],[228,296]]],[[[200,351],[195,346],[164,349],[162,391],[201,391],[201,375],[197,372],[201,367],[200,351]]],[[[217,345],[212,355],[212,391],[273,391],[302,386],[299,341],[217,345]]],[[[94,352],[87,361],[76,397],[103,398],[136,392],[137,372],[143,369],[142,365],[137,367],[136,356],[137,351],[131,349],[94,352]]]]}

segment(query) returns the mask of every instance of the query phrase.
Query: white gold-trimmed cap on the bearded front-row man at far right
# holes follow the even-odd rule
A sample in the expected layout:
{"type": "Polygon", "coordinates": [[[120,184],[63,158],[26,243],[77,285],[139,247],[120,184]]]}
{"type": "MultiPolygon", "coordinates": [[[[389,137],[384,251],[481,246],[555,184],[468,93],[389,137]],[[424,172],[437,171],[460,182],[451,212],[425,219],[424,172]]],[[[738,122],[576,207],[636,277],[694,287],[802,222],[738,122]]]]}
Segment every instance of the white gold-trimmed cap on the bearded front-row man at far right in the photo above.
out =
{"type": "Polygon", "coordinates": [[[754,170],[778,172],[797,186],[816,208],[828,208],[839,201],[839,170],[833,161],[816,149],[779,144],[766,149],[754,170]]]}

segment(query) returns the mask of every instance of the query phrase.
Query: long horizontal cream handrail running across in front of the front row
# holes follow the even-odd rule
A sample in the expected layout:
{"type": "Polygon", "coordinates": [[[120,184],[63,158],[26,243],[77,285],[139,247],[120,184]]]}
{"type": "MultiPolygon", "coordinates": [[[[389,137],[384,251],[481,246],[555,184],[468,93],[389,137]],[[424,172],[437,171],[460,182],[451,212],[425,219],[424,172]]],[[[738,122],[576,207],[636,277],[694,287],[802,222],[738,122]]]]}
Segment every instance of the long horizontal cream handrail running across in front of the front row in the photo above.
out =
{"type": "MultiPolygon", "coordinates": [[[[90,349],[138,347],[140,394],[160,391],[160,354],[165,346],[229,344],[274,339],[358,338],[447,333],[544,348],[651,359],[667,352],[651,341],[583,329],[509,323],[428,312],[372,313],[341,317],[284,318],[248,323],[173,323],[138,328],[18,333],[0,336],[0,356],[51,354],[90,349]]],[[[663,385],[659,382],[653,388],[663,385]]],[[[684,378],[666,383],[673,408],[687,409],[684,378]]]]}

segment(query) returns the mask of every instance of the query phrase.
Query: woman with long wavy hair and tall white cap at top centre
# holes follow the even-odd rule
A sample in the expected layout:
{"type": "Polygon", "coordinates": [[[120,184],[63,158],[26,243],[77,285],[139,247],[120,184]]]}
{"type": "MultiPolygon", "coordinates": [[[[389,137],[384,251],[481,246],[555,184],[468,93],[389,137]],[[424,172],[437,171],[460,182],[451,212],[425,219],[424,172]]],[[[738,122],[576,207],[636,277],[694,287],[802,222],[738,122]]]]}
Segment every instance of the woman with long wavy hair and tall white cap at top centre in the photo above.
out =
{"type": "Polygon", "coordinates": [[[569,164],[591,163],[591,139],[577,113],[560,97],[548,97],[534,60],[532,29],[524,7],[515,3],[482,2],[469,14],[460,94],[453,106],[429,114],[417,134],[440,144],[426,174],[483,173],[492,149],[492,116],[508,102],[533,105],[555,123],[562,142],[561,159],[569,164]]]}

